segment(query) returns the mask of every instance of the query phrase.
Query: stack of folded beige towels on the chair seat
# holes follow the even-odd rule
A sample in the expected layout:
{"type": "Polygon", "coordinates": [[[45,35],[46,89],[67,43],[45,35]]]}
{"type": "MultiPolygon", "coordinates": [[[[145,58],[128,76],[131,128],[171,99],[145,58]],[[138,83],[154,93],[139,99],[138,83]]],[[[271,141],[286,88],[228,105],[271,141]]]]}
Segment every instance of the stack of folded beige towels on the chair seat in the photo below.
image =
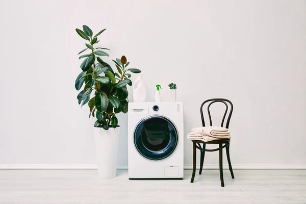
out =
{"type": "Polygon", "coordinates": [[[209,142],[213,140],[231,139],[230,131],[224,127],[219,126],[206,126],[194,127],[191,133],[187,135],[190,140],[202,140],[209,142]]]}

